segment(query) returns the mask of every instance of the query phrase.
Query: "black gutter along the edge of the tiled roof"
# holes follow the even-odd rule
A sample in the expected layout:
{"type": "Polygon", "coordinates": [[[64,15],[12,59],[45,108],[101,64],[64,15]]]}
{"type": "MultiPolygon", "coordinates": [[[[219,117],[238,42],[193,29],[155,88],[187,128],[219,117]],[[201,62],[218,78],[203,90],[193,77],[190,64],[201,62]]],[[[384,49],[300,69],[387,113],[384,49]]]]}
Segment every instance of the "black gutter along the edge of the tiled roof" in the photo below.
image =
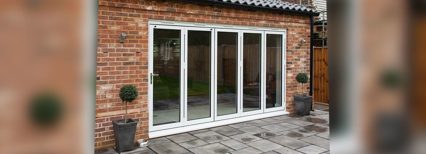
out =
{"type": "Polygon", "coordinates": [[[236,7],[236,8],[244,8],[244,9],[265,10],[265,11],[281,12],[281,13],[293,13],[293,14],[300,14],[300,15],[314,15],[314,16],[320,15],[319,13],[315,13],[315,12],[268,8],[268,7],[262,7],[262,6],[251,6],[251,5],[245,5],[245,4],[225,3],[225,2],[210,1],[210,0],[208,1],[207,0],[179,0],[179,1],[203,3],[203,4],[210,4],[210,5],[217,5],[217,6],[230,6],[230,7],[236,7]]]}

